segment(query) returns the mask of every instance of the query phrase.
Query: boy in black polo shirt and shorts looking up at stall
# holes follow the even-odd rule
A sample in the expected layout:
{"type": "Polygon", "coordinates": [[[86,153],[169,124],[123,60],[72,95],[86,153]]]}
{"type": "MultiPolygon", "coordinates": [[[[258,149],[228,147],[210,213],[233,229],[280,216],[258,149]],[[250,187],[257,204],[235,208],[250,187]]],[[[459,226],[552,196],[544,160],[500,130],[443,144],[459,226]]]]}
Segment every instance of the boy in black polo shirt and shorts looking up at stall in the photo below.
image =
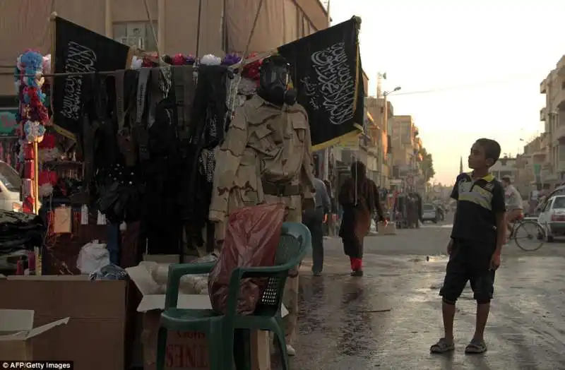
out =
{"type": "Polygon", "coordinates": [[[480,138],[469,155],[470,173],[457,177],[451,198],[457,201],[451,240],[447,246],[444,286],[440,290],[441,311],[444,316],[444,338],[432,345],[430,352],[445,353],[453,345],[455,304],[468,280],[477,301],[475,335],[465,347],[465,353],[483,353],[484,326],[489,317],[494,292],[494,271],[500,265],[500,253],[506,239],[504,222],[504,190],[489,168],[499,160],[500,145],[494,140],[480,138]]]}

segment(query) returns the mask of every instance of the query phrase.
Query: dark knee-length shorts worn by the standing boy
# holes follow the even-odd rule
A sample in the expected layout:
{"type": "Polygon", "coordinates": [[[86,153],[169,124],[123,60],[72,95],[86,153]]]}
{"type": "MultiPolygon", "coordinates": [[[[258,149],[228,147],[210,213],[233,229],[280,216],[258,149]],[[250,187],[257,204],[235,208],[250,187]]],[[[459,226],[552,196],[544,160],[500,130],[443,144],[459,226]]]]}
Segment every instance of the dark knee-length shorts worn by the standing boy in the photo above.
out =
{"type": "Polygon", "coordinates": [[[444,286],[439,291],[444,302],[455,304],[468,281],[478,304],[490,302],[494,292],[494,270],[490,270],[494,249],[495,243],[453,239],[444,286]]]}

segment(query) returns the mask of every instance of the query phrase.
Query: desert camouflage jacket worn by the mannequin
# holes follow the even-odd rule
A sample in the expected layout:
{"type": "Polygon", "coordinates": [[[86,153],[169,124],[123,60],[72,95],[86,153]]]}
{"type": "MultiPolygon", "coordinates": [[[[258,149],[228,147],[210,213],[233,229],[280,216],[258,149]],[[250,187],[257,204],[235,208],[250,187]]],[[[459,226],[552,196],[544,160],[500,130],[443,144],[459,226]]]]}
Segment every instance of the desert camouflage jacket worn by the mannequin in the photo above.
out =
{"type": "Polygon", "coordinates": [[[314,191],[306,110],[298,104],[280,109],[255,95],[236,110],[216,156],[210,220],[225,222],[237,208],[279,201],[287,205],[287,220],[300,222],[302,201],[314,191]],[[264,181],[298,191],[274,196],[264,181]]]}

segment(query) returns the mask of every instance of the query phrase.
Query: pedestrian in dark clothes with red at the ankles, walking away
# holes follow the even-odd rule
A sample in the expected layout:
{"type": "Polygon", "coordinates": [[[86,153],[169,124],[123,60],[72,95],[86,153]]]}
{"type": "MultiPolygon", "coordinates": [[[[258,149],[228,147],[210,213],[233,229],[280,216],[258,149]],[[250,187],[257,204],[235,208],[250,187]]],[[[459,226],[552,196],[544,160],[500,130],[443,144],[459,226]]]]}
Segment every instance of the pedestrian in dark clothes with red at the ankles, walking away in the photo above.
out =
{"type": "Polygon", "coordinates": [[[351,165],[351,177],[341,186],[338,201],[343,208],[340,237],[343,251],[350,257],[351,275],[363,276],[363,240],[371,227],[371,217],[376,212],[379,221],[386,225],[379,190],[373,180],[367,179],[367,167],[356,161],[351,165]]]}

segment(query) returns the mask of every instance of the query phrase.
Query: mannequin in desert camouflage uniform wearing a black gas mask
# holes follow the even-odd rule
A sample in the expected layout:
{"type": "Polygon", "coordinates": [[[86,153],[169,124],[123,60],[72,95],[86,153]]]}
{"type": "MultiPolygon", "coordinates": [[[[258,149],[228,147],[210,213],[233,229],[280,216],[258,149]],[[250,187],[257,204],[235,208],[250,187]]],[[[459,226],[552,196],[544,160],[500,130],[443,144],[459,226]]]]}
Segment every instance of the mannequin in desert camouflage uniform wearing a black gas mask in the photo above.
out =
{"type": "MultiPolygon", "coordinates": [[[[237,109],[216,157],[209,217],[216,222],[220,243],[227,217],[238,208],[285,203],[287,222],[302,222],[303,205],[314,208],[310,126],[304,107],[287,90],[288,68],[281,56],[263,61],[258,93],[237,109]]],[[[290,346],[296,337],[297,300],[296,270],[286,282],[283,298],[289,311],[285,328],[290,346]]],[[[292,347],[289,352],[294,354],[292,347]]]]}

